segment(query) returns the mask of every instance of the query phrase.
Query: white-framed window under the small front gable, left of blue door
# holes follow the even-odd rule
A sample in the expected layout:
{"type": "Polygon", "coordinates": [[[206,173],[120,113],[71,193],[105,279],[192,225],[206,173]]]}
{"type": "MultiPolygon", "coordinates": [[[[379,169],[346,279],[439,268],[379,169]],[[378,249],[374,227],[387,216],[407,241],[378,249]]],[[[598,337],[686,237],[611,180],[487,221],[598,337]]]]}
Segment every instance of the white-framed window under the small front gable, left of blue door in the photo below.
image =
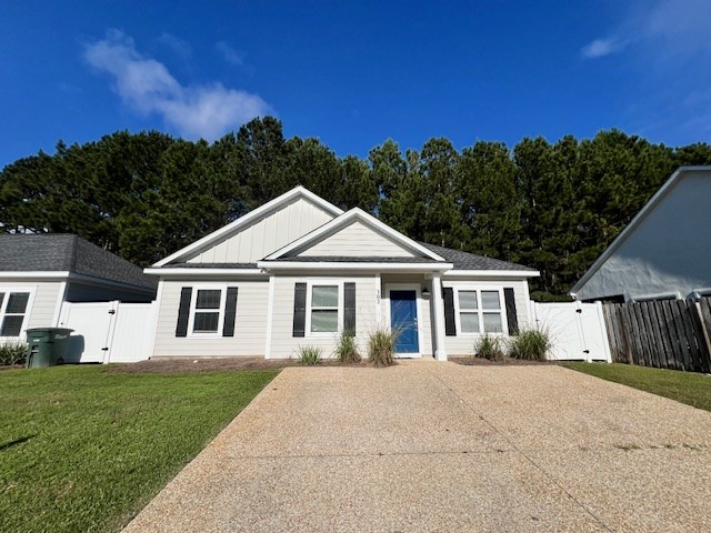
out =
{"type": "Polygon", "coordinates": [[[307,283],[307,335],[328,336],[341,331],[343,323],[343,283],[309,281],[307,283]]]}

